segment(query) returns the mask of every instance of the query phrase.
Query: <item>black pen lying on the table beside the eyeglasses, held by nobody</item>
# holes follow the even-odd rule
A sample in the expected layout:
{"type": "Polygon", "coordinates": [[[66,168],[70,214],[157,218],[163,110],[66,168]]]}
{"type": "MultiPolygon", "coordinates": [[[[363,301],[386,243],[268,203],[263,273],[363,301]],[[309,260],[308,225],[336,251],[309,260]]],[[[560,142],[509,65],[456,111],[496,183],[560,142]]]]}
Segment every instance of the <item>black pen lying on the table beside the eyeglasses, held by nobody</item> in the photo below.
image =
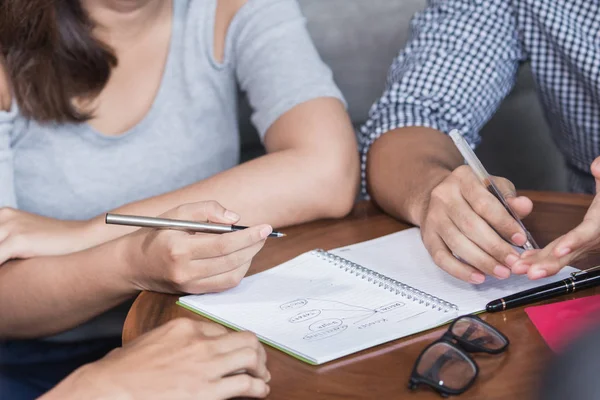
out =
{"type": "Polygon", "coordinates": [[[519,293],[511,294],[502,299],[491,301],[485,306],[487,312],[508,310],[541,300],[551,299],[563,294],[575,293],[577,290],[587,289],[600,285],[600,265],[577,272],[572,272],[571,277],[547,285],[538,286],[519,293]]]}

